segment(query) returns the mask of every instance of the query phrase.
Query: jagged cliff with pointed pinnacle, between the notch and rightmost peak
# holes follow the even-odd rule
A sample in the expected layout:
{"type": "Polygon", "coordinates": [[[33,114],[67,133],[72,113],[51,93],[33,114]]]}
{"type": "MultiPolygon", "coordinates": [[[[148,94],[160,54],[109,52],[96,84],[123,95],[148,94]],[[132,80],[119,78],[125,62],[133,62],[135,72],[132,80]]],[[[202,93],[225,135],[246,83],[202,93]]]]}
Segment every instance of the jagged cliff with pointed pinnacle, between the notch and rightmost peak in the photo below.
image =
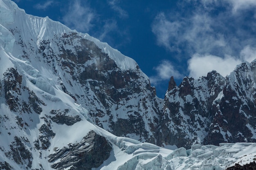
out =
{"type": "Polygon", "coordinates": [[[171,77],[160,119],[158,143],[178,147],[203,143],[214,115],[212,103],[224,84],[224,77],[216,71],[200,79],[185,77],[180,86],[171,77]]]}

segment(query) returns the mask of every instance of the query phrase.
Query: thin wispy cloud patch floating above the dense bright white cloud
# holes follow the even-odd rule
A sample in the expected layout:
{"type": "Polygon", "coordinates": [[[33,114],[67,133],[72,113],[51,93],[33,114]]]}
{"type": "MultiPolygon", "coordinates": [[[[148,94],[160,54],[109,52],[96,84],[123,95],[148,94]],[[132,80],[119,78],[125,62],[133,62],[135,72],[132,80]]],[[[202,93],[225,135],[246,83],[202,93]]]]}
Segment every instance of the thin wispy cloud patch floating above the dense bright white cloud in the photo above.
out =
{"type": "Polygon", "coordinates": [[[180,52],[186,48],[186,53],[211,53],[216,49],[227,51],[225,34],[217,31],[215,24],[220,24],[217,18],[211,18],[207,13],[195,13],[189,18],[166,18],[159,13],[152,25],[157,44],[170,51],[180,52]],[[224,48],[225,47],[225,48],[224,48]]]}

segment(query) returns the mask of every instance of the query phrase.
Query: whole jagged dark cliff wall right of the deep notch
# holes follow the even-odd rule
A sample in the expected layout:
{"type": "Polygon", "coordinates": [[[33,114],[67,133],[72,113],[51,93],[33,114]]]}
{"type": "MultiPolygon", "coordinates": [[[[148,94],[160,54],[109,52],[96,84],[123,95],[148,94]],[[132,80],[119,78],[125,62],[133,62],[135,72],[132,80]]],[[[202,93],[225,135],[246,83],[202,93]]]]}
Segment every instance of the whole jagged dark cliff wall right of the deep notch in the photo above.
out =
{"type": "Polygon", "coordinates": [[[195,143],[255,142],[255,65],[240,64],[227,77],[216,71],[199,79],[185,77],[180,86],[171,77],[158,144],[189,148],[195,143]]]}

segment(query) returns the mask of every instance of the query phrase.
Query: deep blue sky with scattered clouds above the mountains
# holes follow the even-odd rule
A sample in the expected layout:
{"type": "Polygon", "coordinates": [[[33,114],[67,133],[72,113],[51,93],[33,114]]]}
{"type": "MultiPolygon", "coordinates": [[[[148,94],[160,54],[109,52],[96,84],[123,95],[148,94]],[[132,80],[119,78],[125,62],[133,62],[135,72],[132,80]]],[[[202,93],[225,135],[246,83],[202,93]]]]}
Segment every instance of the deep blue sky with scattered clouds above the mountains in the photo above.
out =
{"type": "Polygon", "coordinates": [[[256,58],[256,0],[13,0],[133,58],[161,98],[174,76],[223,76],[256,58]]]}

